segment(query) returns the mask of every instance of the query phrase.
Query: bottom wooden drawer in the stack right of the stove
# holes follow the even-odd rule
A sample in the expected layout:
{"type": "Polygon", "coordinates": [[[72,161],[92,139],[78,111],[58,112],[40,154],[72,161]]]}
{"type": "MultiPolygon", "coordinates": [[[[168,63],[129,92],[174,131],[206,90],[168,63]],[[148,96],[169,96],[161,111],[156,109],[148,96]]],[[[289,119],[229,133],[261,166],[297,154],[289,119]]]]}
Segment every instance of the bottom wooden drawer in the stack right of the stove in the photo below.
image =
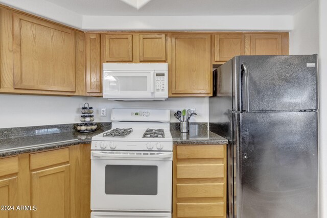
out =
{"type": "Polygon", "coordinates": [[[223,216],[224,203],[177,203],[177,217],[223,216]]]}

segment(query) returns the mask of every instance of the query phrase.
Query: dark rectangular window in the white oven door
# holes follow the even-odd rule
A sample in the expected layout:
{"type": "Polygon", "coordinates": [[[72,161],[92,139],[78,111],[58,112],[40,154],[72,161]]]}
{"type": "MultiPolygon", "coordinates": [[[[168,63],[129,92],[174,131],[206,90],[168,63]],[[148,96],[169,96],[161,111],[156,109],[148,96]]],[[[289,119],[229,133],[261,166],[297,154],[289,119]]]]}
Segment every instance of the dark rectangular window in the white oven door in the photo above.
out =
{"type": "Polygon", "coordinates": [[[158,166],[106,165],[106,195],[157,195],[158,166]]]}

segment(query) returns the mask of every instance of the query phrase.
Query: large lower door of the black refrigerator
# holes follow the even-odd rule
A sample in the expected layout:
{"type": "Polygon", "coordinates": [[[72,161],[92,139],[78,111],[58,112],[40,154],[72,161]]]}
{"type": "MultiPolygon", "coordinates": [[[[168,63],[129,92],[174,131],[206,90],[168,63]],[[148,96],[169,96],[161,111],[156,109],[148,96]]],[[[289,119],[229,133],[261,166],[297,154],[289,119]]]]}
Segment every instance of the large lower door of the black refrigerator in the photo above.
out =
{"type": "Polygon", "coordinates": [[[318,217],[317,112],[234,115],[237,217],[318,217]]]}

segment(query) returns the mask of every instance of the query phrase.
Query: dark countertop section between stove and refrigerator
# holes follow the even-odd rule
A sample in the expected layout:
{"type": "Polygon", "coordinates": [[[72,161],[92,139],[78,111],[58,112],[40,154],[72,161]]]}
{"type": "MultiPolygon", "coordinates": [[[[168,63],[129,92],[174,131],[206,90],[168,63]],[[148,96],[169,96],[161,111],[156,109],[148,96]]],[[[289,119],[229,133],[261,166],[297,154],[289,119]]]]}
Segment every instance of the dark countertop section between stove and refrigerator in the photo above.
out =
{"type": "Polygon", "coordinates": [[[170,131],[173,137],[173,144],[228,144],[226,138],[217,135],[209,130],[190,130],[188,133],[182,133],[179,130],[170,131]]]}

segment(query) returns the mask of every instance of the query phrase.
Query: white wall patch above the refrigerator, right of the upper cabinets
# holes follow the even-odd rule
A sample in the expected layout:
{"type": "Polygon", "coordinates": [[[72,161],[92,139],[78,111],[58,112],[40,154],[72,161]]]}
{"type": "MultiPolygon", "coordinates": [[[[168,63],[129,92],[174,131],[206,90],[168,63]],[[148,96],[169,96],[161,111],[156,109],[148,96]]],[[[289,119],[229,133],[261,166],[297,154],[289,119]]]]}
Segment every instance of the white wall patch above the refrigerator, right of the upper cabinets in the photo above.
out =
{"type": "Polygon", "coordinates": [[[317,54],[318,38],[318,0],[315,0],[294,15],[294,30],[290,32],[290,54],[317,54]]]}

